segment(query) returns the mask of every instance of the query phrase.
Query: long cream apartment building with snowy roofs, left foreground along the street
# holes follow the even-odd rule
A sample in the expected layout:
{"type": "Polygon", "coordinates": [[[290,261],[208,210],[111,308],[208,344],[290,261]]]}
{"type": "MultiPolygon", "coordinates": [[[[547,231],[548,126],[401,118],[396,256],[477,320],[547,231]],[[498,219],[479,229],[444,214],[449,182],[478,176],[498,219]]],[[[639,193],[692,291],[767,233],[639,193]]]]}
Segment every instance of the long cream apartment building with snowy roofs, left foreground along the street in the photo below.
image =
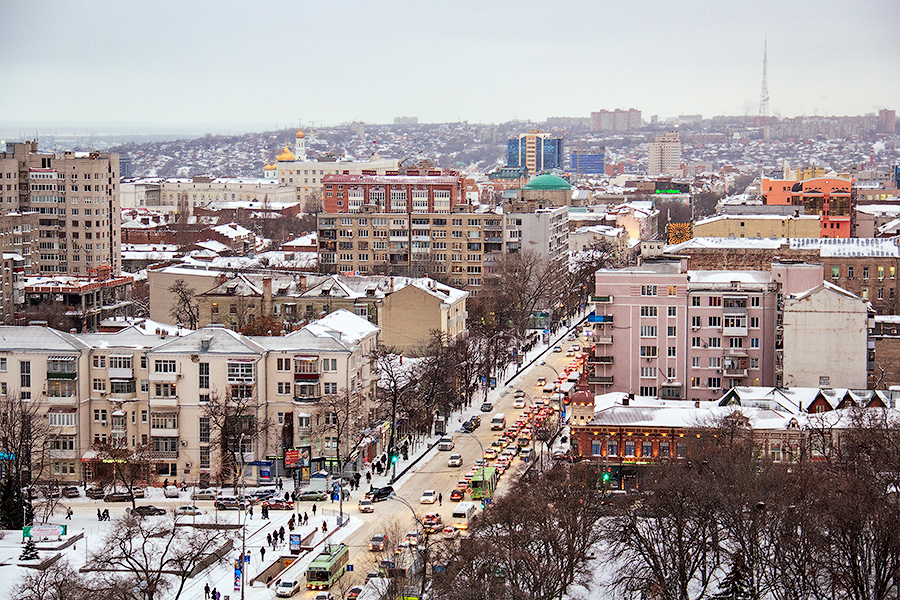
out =
{"type": "MultiPolygon", "coordinates": [[[[265,439],[245,439],[241,448],[248,462],[260,461],[248,469],[260,481],[281,473],[286,448],[309,447],[323,468],[334,466],[338,442],[326,433],[323,396],[346,391],[367,420],[374,416],[369,356],[379,330],[347,311],[283,337],[249,338],[222,327],[185,336],[141,327],[83,335],[0,327],[0,333],[0,394],[36,402],[48,418],[51,464],[44,479],[90,479],[99,446],[150,444],[156,475],[215,480],[221,462],[206,412],[212,395],[249,399],[252,418],[271,424],[265,439]]],[[[380,438],[371,443],[380,451],[380,438]]]]}

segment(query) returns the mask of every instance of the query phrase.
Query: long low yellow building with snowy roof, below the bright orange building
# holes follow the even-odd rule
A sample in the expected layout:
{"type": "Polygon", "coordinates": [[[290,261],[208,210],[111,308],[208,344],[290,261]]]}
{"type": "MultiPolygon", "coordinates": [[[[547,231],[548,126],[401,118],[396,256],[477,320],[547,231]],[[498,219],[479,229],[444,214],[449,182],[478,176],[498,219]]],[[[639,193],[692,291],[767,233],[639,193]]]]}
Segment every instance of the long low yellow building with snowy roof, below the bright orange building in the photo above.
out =
{"type": "Polygon", "coordinates": [[[818,215],[716,215],[694,223],[694,237],[817,238],[818,215]]]}

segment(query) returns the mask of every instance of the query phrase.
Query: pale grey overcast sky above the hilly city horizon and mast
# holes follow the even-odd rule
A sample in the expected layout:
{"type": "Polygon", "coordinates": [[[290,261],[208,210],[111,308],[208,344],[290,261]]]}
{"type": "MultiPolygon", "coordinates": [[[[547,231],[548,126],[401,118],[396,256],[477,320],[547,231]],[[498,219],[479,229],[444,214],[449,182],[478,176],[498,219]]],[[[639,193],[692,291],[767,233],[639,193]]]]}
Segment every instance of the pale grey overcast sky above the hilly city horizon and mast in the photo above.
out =
{"type": "Polygon", "coordinates": [[[900,99],[897,0],[3,0],[0,122],[503,122],[900,99]]]}

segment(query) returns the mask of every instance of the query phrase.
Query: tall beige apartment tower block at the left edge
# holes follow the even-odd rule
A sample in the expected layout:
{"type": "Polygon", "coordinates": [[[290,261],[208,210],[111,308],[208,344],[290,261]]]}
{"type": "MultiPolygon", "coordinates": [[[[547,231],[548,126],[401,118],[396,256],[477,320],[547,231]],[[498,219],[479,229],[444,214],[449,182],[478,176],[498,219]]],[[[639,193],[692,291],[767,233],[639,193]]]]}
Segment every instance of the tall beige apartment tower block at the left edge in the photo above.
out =
{"type": "Polygon", "coordinates": [[[10,142],[0,153],[0,177],[8,188],[4,212],[40,215],[34,234],[40,262],[32,272],[121,271],[118,154],[49,153],[36,141],[10,142]]]}

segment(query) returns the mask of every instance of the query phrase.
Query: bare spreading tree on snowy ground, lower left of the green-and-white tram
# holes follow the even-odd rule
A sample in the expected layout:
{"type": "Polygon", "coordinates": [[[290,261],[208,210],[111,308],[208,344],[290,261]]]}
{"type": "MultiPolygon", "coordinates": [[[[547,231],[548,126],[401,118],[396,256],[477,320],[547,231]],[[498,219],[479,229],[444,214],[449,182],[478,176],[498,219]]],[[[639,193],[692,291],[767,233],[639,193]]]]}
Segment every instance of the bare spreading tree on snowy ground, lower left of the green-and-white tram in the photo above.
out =
{"type": "Polygon", "coordinates": [[[103,593],[119,589],[154,600],[165,595],[178,600],[204,561],[222,562],[233,540],[228,530],[185,527],[177,518],[142,518],[133,512],[116,523],[87,567],[100,574],[91,587],[103,593]],[[135,585],[140,583],[140,585],[135,585]]]}

